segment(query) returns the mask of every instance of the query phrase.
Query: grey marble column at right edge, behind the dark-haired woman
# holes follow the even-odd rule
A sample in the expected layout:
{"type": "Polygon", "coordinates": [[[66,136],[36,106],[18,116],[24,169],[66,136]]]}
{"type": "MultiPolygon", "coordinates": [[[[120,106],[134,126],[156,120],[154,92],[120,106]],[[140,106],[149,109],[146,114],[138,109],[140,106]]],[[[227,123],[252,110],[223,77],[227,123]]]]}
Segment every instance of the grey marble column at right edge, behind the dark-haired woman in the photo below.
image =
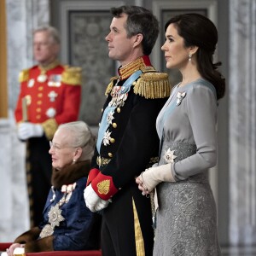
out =
{"type": "Polygon", "coordinates": [[[230,1],[230,244],[256,241],[256,1],[230,1]]]}

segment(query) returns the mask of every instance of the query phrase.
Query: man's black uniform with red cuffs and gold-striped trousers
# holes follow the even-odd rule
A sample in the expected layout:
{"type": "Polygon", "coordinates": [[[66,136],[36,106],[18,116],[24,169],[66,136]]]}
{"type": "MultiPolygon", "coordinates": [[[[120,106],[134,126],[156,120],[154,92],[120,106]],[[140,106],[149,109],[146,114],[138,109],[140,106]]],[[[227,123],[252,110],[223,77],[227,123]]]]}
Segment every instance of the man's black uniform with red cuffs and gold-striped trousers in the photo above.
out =
{"type": "MultiPolygon", "coordinates": [[[[120,90],[131,74],[142,66],[150,66],[148,56],[119,69],[120,76],[113,79],[113,89],[108,93],[103,116],[109,103],[113,105],[114,92],[120,90]]],[[[155,82],[160,84],[159,80],[155,82]]],[[[109,256],[152,255],[153,251],[150,200],[137,189],[135,177],[157,160],[159,139],[155,121],[166,97],[149,99],[140,96],[133,86],[139,83],[138,79],[131,83],[124,102],[117,103],[117,108],[108,115],[108,129],[102,137],[100,149],[96,148],[89,175],[89,183],[97,195],[112,201],[102,211],[102,253],[109,256]]],[[[104,119],[101,125],[103,122],[104,119]]]]}

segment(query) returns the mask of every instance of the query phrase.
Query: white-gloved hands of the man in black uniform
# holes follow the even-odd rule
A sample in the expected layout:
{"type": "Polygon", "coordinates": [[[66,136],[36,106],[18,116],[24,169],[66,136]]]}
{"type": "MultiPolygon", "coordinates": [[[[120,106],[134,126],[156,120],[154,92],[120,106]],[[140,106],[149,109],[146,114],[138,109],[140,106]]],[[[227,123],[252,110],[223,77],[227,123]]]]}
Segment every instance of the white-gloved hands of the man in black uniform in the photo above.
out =
{"type": "Polygon", "coordinates": [[[98,212],[108,207],[110,200],[106,201],[99,197],[91,184],[84,189],[84,201],[86,207],[90,209],[90,212],[98,212]]]}

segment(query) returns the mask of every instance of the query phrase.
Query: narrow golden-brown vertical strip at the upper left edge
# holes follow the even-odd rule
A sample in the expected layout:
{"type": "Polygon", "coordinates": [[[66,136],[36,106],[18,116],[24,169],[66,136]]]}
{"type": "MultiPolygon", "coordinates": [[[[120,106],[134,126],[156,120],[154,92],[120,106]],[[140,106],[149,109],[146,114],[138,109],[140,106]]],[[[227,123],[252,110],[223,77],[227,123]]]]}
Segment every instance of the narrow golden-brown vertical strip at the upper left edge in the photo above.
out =
{"type": "Polygon", "coordinates": [[[0,118],[8,116],[7,36],[5,0],[0,1],[0,118]]]}

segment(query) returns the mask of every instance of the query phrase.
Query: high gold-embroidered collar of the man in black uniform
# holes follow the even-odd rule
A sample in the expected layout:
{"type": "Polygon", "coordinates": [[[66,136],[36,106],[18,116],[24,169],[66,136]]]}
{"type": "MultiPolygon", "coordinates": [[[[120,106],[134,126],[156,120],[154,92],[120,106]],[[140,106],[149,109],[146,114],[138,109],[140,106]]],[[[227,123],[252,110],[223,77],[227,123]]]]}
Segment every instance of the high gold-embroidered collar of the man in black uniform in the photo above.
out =
{"type": "Polygon", "coordinates": [[[143,55],[135,61],[132,61],[123,67],[119,67],[119,80],[127,79],[137,70],[144,69],[147,66],[151,66],[151,62],[148,55],[143,55]]]}

